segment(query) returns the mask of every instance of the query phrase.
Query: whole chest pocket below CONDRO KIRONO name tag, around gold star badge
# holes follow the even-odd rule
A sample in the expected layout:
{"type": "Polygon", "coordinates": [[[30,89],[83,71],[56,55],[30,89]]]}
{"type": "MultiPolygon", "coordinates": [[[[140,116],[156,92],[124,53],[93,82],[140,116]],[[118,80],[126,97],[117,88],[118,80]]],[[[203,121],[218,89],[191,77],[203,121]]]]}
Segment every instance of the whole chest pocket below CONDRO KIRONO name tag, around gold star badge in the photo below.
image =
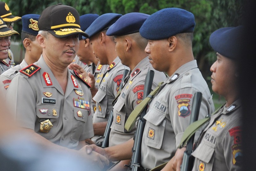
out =
{"type": "Polygon", "coordinates": [[[59,108],[53,105],[36,106],[36,116],[35,132],[46,139],[52,139],[55,137],[56,131],[58,131],[59,108]],[[40,132],[41,122],[46,121],[47,119],[52,123],[52,128],[50,128],[48,133],[40,132]]]}

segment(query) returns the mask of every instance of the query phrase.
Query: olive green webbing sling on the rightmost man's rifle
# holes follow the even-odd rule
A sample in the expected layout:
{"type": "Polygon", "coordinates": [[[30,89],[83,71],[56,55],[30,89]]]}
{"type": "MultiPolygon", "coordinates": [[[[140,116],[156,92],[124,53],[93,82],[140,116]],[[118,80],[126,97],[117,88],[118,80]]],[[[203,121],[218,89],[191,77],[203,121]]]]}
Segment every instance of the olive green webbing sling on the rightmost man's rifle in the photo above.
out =
{"type": "MultiPolygon", "coordinates": [[[[223,104],[223,105],[224,105],[224,104],[223,104]]],[[[222,105],[222,106],[223,106],[223,105],[222,105]]],[[[221,107],[222,107],[222,106],[221,106],[221,107]]],[[[216,113],[221,109],[221,107],[220,107],[219,109],[215,110],[215,112],[213,112],[213,113],[211,114],[211,116],[214,115],[214,114],[216,114],[216,113]]],[[[193,122],[192,124],[190,124],[190,125],[186,128],[186,130],[184,131],[184,133],[183,133],[183,135],[182,135],[182,137],[181,137],[181,140],[180,140],[180,145],[178,146],[178,148],[184,147],[184,145],[187,144],[188,140],[192,137],[192,135],[193,135],[194,133],[196,133],[196,131],[197,131],[202,125],[204,125],[204,123],[206,123],[206,122],[209,121],[209,120],[210,120],[210,116],[208,115],[208,116],[205,117],[204,119],[200,119],[200,120],[195,121],[195,122],[193,122]]]]}

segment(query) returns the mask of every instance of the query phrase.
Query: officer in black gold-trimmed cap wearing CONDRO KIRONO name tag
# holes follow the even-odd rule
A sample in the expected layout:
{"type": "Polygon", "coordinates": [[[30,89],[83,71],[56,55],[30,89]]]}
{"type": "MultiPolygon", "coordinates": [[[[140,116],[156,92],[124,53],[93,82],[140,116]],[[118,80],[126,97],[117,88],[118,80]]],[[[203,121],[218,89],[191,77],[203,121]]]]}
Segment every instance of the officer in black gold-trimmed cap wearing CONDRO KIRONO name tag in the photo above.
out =
{"type": "Polygon", "coordinates": [[[18,124],[49,149],[81,155],[102,168],[108,161],[88,156],[85,139],[93,137],[89,84],[68,65],[79,47],[78,12],[65,5],[49,6],[39,17],[37,41],[43,48],[38,62],[16,74],[7,89],[18,124]]]}

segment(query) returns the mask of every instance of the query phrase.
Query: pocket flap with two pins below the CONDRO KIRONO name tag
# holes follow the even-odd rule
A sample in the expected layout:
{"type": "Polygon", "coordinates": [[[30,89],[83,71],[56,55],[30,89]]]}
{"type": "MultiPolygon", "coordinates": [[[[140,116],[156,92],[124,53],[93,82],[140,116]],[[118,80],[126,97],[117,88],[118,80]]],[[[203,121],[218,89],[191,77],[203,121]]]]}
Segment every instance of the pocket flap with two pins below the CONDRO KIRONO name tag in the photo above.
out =
{"type": "Polygon", "coordinates": [[[60,116],[59,108],[56,106],[40,105],[36,106],[36,116],[39,118],[58,118],[60,116]]]}

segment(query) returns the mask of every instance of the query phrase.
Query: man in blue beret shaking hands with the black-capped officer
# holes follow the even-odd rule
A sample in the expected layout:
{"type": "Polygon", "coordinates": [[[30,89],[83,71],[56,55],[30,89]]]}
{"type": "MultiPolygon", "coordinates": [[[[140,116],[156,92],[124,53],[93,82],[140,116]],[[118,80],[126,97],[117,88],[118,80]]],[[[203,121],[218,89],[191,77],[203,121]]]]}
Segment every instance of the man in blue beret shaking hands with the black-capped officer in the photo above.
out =
{"type": "MultiPolygon", "coordinates": [[[[193,95],[203,94],[199,118],[214,110],[209,88],[197,68],[192,53],[194,15],[179,8],[166,8],[152,14],[139,32],[148,40],[145,52],[150,63],[169,77],[151,101],[142,137],[141,165],[150,169],[169,161],[177,150],[180,138],[189,125],[193,95]]],[[[199,134],[198,134],[199,135],[199,134]]],[[[110,161],[127,159],[133,140],[99,150],[110,161]],[[122,154],[118,151],[122,151],[122,154]],[[124,155],[125,154],[125,155],[124,155]]]]}

